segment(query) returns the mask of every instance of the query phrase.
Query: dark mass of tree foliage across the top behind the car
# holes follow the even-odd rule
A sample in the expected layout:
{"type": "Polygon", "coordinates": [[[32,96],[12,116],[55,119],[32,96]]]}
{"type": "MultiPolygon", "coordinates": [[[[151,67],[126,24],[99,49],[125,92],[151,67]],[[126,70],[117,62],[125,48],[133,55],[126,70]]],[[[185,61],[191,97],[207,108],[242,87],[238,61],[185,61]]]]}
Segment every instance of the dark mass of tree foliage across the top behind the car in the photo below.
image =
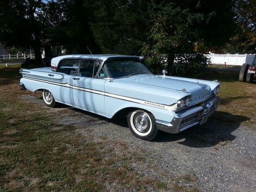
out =
{"type": "Polygon", "coordinates": [[[196,61],[204,63],[194,58],[196,52],[220,52],[233,35],[226,50],[251,50],[255,44],[251,0],[2,2],[0,41],[32,47],[39,59],[41,43],[48,38],[68,53],[90,53],[89,48],[93,54],[144,55],[153,71],[164,66],[176,74],[183,71],[174,62],[181,54],[192,54],[185,63],[190,60],[195,67],[196,61]]]}

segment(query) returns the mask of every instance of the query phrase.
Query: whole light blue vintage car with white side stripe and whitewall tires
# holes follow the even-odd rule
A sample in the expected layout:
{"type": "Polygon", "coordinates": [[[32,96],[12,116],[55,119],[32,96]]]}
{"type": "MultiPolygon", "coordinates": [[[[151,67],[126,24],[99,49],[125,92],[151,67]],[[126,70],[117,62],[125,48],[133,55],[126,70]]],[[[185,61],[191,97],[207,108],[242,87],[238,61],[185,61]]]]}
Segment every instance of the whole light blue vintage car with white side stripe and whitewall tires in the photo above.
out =
{"type": "Polygon", "coordinates": [[[56,102],[108,118],[127,117],[131,132],[152,140],[158,130],[179,133],[203,124],[221,98],[220,83],[154,75],[144,58],[124,55],[65,55],[51,68],[20,69],[20,89],[41,91],[47,106],[56,102]]]}

